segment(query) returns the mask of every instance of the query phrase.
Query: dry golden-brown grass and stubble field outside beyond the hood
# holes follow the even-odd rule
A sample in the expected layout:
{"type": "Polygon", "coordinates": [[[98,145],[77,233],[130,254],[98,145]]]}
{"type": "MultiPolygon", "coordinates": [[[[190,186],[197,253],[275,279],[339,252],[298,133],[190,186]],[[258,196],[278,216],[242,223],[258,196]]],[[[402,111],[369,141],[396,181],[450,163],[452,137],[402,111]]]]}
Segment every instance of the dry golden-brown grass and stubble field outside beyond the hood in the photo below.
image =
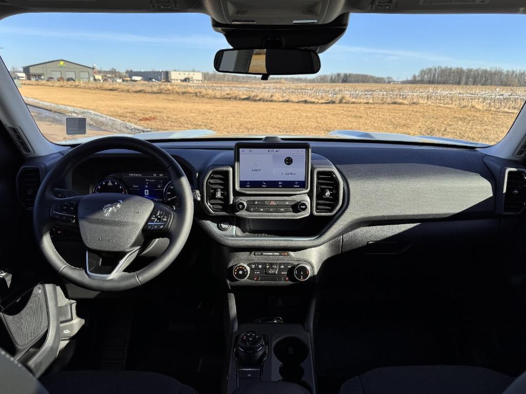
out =
{"type": "MultiPolygon", "coordinates": [[[[498,142],[525,88],[440,85],[23,82],[24,97],[103,113],[154,130],[325,134],[336,129],[498,142]]],[[[56,130],[46,132],[63,140],[56,130]]]]}

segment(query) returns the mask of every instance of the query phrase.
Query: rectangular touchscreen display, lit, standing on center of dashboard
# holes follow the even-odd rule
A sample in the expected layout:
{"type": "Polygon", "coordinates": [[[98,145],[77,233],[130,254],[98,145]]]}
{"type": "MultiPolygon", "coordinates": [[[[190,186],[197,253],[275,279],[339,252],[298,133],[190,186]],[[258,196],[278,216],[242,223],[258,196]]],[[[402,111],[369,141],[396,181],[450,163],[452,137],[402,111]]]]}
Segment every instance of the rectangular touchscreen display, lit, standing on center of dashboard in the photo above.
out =
{"type": "Polygon", "coordinates": [[[239,147],[240,189],[306,189],[306,148],[239,147]]]}

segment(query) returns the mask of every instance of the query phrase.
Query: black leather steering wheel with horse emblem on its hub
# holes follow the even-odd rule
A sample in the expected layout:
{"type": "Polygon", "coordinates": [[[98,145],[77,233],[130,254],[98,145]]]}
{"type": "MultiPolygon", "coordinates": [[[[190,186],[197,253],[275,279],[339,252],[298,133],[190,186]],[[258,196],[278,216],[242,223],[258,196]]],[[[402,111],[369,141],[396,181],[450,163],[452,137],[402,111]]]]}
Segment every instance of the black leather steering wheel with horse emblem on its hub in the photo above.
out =
{"type": "Polygon", "coordinates": [[[131,137],[106,137],[85,142],[60,158],[42,181],[33,209],[33,230],[46,260],[60,276],[97,291],[140,286],[163,272],[183,248],[194,217],[190,184],[177,161],[154,144],[131,137]],[[174,211],[146,198],[98,193],[58,199],[53,191],[65,174],[90,155],[108,149],[127,149],[155,159],[168,173],[180,199],[174,211]],[[84,268],[69,265],[58,254],[50,230],[59,227],[80,233],[86,246],[84,268]],[[167,238],[166,250],[136,272],[124,269],[146,241],[167,238]]]}

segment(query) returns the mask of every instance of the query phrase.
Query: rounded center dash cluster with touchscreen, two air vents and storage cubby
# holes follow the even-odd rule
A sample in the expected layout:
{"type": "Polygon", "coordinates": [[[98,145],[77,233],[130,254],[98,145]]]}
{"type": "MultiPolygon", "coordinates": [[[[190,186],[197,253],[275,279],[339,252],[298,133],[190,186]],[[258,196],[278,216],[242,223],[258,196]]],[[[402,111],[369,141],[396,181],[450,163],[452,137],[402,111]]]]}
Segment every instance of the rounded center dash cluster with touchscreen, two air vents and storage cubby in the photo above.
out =
{"type": "Polygon", "coordinates": [[[345,193],[339,171],[309,143],[277,137],[238,142],[201,181],[201,224],[224,245],[312,240],[342,211],[345,193]]]}

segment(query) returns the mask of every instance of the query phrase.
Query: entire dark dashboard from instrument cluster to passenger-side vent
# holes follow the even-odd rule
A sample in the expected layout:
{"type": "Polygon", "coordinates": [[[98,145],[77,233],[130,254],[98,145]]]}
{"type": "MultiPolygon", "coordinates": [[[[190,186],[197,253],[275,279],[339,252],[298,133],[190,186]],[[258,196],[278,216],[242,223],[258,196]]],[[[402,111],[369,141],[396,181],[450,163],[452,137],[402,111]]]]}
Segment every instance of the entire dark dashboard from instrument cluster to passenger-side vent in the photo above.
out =
{"type": "MultiPolygon", "coordinates": [[[[200,242],[224,247],[229,272],[246,275],[231,284],[287,284],[287,269],[308,279],[329,256],[360,248],[398,253],[437,237],[488,239],[526,203],[526,186],[517,190],[514,180],[526,185],[522,165],[476,149],[275,138],[158,146],[178,161],[193,189],[200,242]]],[[[57,158],[25,166],[45,174],[57,158]]],[[[178,209],[156,161],[127,150],[93,155],[58,187],[135,194],[178,209]]]]}

